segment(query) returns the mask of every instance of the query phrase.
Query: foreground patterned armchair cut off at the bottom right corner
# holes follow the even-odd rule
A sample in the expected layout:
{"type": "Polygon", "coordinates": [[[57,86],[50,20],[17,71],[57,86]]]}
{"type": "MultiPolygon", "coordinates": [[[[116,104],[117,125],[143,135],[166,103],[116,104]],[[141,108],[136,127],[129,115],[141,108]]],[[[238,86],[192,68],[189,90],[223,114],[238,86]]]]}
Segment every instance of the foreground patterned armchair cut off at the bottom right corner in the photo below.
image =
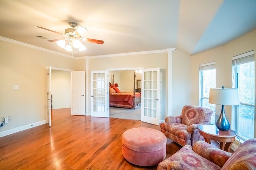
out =
{"type": "Polygon", "coordinates": [[[197,141],[160,162],[157,170],[256,170],[256,138],[245,141],[233,154],[197,141]]]}

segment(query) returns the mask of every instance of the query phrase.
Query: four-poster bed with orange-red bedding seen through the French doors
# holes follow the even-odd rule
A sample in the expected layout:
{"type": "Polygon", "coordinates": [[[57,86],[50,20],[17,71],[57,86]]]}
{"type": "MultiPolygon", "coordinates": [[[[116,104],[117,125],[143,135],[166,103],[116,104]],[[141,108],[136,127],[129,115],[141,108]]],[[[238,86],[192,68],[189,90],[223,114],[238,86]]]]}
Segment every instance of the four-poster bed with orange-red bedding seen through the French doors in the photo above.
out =
{"type": "Polygon", "coordinates": [[[122,107],[135,109],[141,103],[140,93],[136,92],[135,89],[135,78],[134,72],[134,85],[133,92],[120,92],[117,88],[118,85],[114,84],[114,74],[112,75],[112,83],[109,83],[109,105],[110,107],[122,107]]]}

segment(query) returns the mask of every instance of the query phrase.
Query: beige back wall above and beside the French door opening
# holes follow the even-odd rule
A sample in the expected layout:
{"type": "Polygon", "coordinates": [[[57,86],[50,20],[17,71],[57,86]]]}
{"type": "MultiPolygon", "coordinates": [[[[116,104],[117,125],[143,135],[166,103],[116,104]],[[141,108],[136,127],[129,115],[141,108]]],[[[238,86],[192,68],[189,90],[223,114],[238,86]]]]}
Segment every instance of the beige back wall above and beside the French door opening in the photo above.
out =
{"type": "MultiPolygon", "coordinates": [[[[160,119],[164,120],[167,112],[167,52],[92,58],[90,59],[91,70],[108,70],[120,68],[160,68],[160,119]]],[[[115,79],[114,79],[115,80],[115,79]]],[[[132,85],[133,86],[133,85],[132,85]]],[[[89,101],[90,102],[90,101],[89,101]]],[[[89,104],[90,106],[90,104],[89,104]]]]}

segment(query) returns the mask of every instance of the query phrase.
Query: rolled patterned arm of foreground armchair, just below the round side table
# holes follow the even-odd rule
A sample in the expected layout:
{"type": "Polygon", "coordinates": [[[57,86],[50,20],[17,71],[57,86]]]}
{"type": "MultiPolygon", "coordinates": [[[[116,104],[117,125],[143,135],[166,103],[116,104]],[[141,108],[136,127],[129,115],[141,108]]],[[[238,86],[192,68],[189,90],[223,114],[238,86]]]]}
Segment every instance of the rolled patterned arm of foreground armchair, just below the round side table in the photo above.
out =
{"type": "Polygon", "coordinates": [[[205,141],[197,141],[193,146],[194,152],[200,156],[214,162],[219,166],[223,166],[228,158],[232,155],[230,152],[220,150],[214,145],[211,145],[205,141]]]}

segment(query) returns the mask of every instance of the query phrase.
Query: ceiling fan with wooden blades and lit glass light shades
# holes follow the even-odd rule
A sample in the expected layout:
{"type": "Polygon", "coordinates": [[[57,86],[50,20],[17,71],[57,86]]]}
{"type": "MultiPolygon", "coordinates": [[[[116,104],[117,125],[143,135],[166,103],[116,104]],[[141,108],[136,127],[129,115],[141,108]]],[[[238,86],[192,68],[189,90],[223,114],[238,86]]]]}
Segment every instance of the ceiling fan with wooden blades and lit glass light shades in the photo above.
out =
{"type": "Polygon", "coordinates": [[[102,41],[102,40],[81,37],[87,31],[87,29],[85,27],[78,26],[77,29],[75,29],[75,27],[77,26],[77,23],[75,23],[75,22],[69,22],[69,25],[72,28],[65,29],[64,34],[56,32],[56,31],[52,31],[52,30],[44,28],[44,27],[39,27],[39,26],[37,26],[37,27],[41,28],[41,29],[45,29],[47,31],[51,31],[51,32],[63,35],[65,38],[52,39],[52,40],[48,40],[48,41],[56,42],[60,47],[66,49],[67,51],[73,52],[74,49],[77,49],[78,51],[85,50],[86,47],[84,45],[82,45],[82,43],[80,41],[88,41],[90,43],[96,43],[96,44],[104,43],[104,41],[102,41]]]}

